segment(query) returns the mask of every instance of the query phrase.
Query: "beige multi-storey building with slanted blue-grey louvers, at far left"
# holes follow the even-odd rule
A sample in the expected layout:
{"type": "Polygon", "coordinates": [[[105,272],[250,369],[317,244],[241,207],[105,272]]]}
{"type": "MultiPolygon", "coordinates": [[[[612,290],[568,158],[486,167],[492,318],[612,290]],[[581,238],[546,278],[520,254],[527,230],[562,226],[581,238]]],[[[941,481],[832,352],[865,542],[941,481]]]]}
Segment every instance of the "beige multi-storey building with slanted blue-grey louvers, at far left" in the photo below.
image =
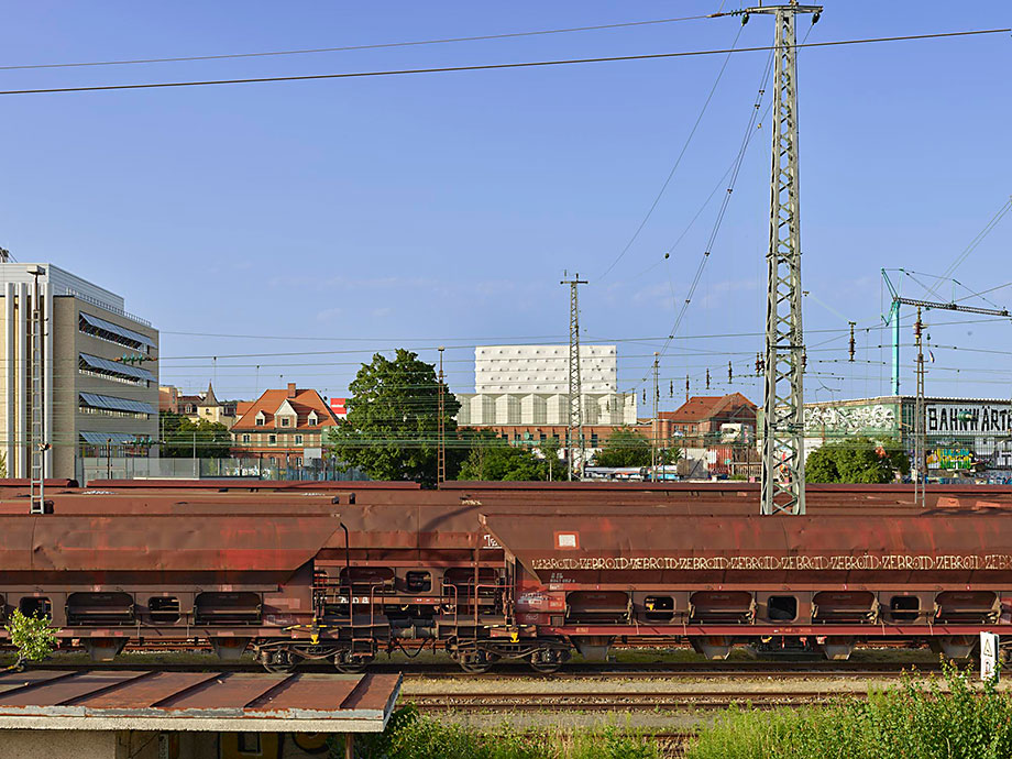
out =
{"type": "Polygon", "coordinates": [[[40,446],[48,446],[45,475],[57,479],[75,477],[81,455],[157,455],[157,330],[129,314],[121,296],[53,264],[0,263],[7,476],[30,477],[40,446]],[[36,277],[44,328],[33,350],[36,277]]]}

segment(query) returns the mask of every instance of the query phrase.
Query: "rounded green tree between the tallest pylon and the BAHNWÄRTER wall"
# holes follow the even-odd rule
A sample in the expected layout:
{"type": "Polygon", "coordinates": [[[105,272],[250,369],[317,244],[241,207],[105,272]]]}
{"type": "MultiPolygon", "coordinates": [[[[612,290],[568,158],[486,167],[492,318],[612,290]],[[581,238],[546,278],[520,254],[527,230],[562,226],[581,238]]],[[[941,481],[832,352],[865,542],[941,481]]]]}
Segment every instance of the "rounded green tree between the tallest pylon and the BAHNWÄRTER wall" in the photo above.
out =
{"type": "Polygon", "coordinates": [[[910,459],[892,441],[870,438],[835,440],[812,451],[805,460],[809,482],[881,484],[910,472],[910,459]]]}

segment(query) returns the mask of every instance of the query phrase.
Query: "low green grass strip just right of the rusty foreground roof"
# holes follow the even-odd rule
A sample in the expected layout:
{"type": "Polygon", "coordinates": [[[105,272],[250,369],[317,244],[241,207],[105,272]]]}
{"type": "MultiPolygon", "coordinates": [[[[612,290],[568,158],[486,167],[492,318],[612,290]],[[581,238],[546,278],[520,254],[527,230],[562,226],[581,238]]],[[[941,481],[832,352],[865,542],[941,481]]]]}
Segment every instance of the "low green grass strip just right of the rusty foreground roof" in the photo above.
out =
{"type": "MultiPolygon", "coordinates": [[[[343,743],[331,757],[343,757],[343,743]]],[[[647,736],[616,727],[571,732],[518,732],[508,725],[493,730],[422,717],[413,706],[391,716],[378,736],[361,736],[356,757],[385,759],[660,759],[659,745],[647,736]]]]}

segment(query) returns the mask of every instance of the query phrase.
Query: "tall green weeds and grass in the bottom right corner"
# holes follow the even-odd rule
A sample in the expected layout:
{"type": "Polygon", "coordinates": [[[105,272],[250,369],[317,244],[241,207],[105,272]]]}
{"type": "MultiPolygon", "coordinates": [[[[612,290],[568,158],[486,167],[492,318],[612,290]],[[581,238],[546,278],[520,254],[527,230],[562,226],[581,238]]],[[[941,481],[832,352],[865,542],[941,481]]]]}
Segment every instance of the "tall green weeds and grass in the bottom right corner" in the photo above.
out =
{"type": "Polygon", "coordinates": [[[828,706],[729,710],[703,728],[689,759],[1005,759],[1012,695],[946,666],[828,706]]]}

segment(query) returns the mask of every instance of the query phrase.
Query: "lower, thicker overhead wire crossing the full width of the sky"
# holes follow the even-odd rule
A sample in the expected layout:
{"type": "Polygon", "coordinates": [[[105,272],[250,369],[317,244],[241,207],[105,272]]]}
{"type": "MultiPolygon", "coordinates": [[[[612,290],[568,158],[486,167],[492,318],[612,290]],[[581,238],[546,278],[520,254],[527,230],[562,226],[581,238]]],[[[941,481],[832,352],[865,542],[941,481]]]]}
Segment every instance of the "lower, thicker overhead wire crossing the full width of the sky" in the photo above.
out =
{"type": "MultiPolygon", "coordinates": [[[[864,45],[878,42],[906,42],[912,40],[941,40],[944,37],[964,37],[981,34],[1001,34],[1012,32],[1012,28],[978,29],[968,32],[936,32],[933,34],[906,34],[891,37],[865,37],[858,40],[834,40],[829,42],[810,42],[795,47],[833,47],[843,45],[864,45]]],[[[613,55],[596,58],[568,58],[556,61],[522,61],[503,64],[480,64],[474,66],[440,66],[432,68],[399,68],[376,72],[342,72],[339,74],[305,74],[300,76],[250,77],[244,79],[201,79],[189,81],[150,81],[135,85],[92,85],[86,87],[44,87],[34,89],[0,90],[0,95],[55,95],[62,92],[102,92],[111,90],[165,89],[170,87],[207,87],[211,85],[253,85],[268,81],[311,81],[320,79],[354,79],[366,77],[405,76],[409,74],[449,74],[454,72],[486,72],[509,68],[539,68],[546,66],[570,66],[578,64],[615,63],[619,61],[658,61],[663,58],[684,58],[702,55],[724,55],[726,53],[757,53],[774,50],[773,46],[739,47],[737,50],[680,51],[675,53],[648,53],[642,55],[613,55]]]]}

